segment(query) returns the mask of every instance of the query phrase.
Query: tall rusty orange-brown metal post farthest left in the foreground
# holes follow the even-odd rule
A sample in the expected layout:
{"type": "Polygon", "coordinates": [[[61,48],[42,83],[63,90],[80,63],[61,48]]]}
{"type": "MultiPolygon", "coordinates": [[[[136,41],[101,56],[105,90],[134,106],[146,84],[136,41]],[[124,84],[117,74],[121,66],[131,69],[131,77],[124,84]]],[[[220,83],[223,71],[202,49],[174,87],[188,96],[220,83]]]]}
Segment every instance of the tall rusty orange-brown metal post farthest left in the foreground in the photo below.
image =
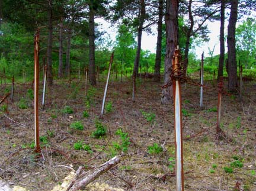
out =
{"type": "Polygon", "coordinates": [[[40,153],[39,140],[39,30],[34,38],[34,125],[36,153],[40,153]]]}

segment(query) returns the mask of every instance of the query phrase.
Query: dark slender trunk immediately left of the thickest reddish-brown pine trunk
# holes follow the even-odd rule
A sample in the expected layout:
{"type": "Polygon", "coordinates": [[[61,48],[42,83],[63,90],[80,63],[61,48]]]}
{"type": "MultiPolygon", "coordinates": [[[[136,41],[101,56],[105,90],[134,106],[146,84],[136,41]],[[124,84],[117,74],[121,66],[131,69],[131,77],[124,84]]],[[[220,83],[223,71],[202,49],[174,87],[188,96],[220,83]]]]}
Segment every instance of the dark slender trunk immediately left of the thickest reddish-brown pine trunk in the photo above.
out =
{"type": "Polygon", "coordinates": [[[164,2],[158,1],[158,37],[156,43],[156,60],[155,60],[155,82],[161,81],[161,53],[162,53],[162,18],[164,17],[164,2]]]}

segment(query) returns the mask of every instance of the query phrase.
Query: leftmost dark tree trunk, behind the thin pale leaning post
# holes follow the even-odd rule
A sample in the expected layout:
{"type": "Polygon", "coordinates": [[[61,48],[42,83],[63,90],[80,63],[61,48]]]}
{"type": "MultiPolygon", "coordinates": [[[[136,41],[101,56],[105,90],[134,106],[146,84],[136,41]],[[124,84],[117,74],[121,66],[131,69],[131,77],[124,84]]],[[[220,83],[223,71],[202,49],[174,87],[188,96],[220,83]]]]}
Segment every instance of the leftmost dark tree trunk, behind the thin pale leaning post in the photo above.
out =
{"type": "Polygon", "coordinates": [[[52,44],[53,44],[53,26],[52,26],[52,0],[49,0],[48,7],[48,42],[47,42],[47,84],[53,85],[52,73],[52,44]]]}

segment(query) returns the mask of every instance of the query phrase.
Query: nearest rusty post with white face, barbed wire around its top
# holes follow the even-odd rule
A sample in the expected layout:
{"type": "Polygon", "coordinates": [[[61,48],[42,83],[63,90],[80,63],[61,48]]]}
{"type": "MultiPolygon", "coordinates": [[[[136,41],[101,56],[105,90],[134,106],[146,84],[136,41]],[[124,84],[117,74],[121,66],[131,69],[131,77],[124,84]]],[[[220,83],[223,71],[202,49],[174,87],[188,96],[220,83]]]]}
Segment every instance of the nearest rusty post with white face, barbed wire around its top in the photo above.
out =
{"type": "Polygon", "coordinates": [[[183,171],[183,128],[182,128],[182,112],[181,112],[181,65],[180,50],[175,49],[172,58],[172,70],[175,76],[172,79],[174,93],[174,116],[175,116],[175,154],[176,154],[176,190],[184,190],[184,171],[183,171]]]}

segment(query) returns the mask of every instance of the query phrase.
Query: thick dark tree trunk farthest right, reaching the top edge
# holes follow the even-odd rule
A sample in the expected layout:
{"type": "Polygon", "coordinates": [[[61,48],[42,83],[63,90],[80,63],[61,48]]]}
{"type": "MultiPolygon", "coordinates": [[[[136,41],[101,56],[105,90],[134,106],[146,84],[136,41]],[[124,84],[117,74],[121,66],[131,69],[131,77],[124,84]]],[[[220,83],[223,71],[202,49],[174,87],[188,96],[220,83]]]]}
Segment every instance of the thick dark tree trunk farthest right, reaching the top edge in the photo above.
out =
{"type": "Polygon", "coordinates": [[[235,25],[238,15],[238,0],[231,0],[231,15],[228,24],[228,89],[236,92],[236,48],[235,48],[235,25]]]}

